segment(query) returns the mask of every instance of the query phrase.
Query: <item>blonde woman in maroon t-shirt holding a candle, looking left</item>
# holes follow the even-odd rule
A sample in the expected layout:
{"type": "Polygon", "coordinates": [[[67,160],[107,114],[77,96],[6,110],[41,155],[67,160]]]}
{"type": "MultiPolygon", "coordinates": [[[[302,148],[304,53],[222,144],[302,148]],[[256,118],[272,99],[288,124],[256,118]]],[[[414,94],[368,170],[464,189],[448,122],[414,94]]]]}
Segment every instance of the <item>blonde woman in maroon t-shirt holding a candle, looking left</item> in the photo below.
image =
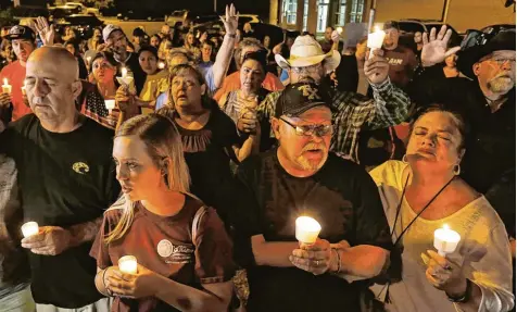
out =
{"type": "Polygon", "coordinates": [[[160,114],[118,129],[113,159],[123,197],[104,213],[90,254],[112,311],[226,311],[232,294],[231,242],[211,208],[188,195],[181,138],[160,114]],[[118,260],[134,255],[136,274],[118,260]]]}

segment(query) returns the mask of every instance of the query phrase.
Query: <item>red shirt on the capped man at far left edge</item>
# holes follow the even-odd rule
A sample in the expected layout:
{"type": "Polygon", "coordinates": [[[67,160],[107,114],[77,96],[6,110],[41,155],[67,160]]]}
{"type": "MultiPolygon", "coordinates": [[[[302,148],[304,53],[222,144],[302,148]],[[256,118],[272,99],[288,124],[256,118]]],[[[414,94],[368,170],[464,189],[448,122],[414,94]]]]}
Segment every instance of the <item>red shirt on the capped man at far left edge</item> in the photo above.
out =
{"type": "Polygon", "coordinates": [[[0,84],[3,85],[3,78],[8,78],[11,85],[11,95],[13,102],[13,121],[18,120],[33,111],[23,102],[22,87],[25,80],[25,67],[20,61],[12,62],[0,72],[0,84]]]}

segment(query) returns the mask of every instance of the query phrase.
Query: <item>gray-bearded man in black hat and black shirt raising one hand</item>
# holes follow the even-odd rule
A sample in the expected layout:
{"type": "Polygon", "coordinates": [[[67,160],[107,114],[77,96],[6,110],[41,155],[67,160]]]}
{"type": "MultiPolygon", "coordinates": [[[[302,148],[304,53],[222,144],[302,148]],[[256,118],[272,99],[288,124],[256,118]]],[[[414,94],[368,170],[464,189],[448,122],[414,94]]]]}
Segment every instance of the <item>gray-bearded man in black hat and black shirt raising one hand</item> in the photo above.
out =
{"type": "Polygon", "coordinates": [[[471,134],[461,164],[462,177],[486,194],[507,172],[514,172],[515,180],[515,28],[472,32],[462,48],[449,50],[447,38],[446,27],[424,34],[421,66],[409,93],[418,105],[439,102],[464,114],[471,134]],[[429,83],[425,68],[459,49],[457,66],[469,79],[429,83]]]}

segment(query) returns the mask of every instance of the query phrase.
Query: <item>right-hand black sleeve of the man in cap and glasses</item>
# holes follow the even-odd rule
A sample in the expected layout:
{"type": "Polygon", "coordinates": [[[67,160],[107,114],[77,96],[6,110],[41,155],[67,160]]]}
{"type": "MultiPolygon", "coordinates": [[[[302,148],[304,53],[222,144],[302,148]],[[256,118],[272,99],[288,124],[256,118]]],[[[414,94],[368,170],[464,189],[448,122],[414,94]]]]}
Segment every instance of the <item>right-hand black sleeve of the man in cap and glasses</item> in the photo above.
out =
{"type": "Polygon", "coordinates": [[[354,185],[355,240],[352,246],[371,245],[391,250],[390,227],[382,209],[377,186],[365,171],[356,171],[354,185]]]}

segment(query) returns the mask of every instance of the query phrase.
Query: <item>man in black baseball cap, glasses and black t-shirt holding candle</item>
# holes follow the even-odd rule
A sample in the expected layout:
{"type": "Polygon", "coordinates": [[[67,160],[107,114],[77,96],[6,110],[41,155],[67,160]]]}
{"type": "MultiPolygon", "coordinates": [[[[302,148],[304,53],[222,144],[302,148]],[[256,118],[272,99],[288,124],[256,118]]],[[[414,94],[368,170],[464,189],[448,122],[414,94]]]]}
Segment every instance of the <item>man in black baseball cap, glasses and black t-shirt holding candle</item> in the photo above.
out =
{"type": "Polygon", "coordinates": [[[358,165],[328,152],[327,103],[315,85],[288,86],[272,120],[278,149],[238,169],[242,188],[252,194],[234,219],[240,221],[234,224],[241,237],[237,261],[248,270],[248,311],[360,311],[358,286],[345,275],[374,277],[389,255],[377,187],[358,165]],[[321,225],[312,246],[295,241],[301,215],[321,225]]]}

